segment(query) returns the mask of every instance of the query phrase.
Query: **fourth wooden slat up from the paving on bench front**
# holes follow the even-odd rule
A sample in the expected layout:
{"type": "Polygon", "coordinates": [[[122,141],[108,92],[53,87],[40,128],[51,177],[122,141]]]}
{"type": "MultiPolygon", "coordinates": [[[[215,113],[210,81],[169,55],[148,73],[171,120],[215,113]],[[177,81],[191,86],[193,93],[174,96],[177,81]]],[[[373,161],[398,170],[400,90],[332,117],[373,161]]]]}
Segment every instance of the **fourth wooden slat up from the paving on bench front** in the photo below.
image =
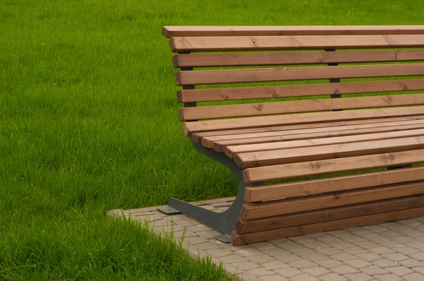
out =
{"type": "Polygon", "coordinates": [[[245,201],[251,203],[269,201],[423,179],[424,167],[411,167],[407,169],[390,169],[387,171],[351,174],[341,177],[267,184],[264,186],[247,186],[245,189],[245,201]]]}

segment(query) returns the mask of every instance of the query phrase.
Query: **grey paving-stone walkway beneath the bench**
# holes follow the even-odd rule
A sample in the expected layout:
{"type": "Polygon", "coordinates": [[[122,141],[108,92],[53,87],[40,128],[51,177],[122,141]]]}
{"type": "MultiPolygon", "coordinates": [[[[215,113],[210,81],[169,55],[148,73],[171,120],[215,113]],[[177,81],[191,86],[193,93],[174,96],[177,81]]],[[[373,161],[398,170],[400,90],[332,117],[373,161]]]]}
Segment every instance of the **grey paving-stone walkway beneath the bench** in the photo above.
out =
{"type": "MultiPolygon", "coordinates": [[[[194,202],[223,212],[234,198],[194,202]]],[[[424,217],[353,227],[242,246],[223,244],[219,234],[184,215],[155,207],[110,210],[110,215],[148,220],[155,232],[175,232],[190,256],[209,254],[240,280],[424,281],[424,217]]]]}

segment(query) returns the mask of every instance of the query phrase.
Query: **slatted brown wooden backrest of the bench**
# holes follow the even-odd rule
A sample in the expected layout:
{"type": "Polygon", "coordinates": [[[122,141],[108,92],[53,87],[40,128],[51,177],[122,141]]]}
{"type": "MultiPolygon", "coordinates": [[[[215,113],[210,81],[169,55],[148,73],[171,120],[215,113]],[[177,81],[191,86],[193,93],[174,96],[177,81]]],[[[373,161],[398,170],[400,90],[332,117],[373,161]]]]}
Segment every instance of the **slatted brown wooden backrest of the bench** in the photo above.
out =
{"type": "Polygon", "coordinates": [[[163,35],[178,53],[182,121],[424,104],[424,25],[165,26],[163,35]],[[251,101],[224,104],[237,100],[251,101]]]}

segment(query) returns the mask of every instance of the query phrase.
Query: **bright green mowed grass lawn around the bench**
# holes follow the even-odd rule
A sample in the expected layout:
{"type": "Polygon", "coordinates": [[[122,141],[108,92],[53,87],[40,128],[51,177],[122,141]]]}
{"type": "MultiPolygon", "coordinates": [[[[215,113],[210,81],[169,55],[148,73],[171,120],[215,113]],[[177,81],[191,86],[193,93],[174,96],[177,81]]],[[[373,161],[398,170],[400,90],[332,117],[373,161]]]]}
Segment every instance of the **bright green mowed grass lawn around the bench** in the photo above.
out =
{"type": "Polygon", "coordinates": [[[232,196],[177,120],[163,25],[423,24],[422,0],[1,0],[0,280],[225,280],[107,210],[232,196]]]}

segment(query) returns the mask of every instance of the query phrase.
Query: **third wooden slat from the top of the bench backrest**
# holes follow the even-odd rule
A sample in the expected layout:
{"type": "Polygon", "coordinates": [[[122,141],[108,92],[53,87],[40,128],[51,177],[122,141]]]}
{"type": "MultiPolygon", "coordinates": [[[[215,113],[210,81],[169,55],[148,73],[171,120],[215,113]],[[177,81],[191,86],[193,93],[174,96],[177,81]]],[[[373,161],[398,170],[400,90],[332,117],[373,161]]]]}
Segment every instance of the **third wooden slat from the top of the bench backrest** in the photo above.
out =
{"type": "Polygon", "coordinates": [[[177,54],[172,60],[177,68],[423,61],[424,50],[177,54]]]}

